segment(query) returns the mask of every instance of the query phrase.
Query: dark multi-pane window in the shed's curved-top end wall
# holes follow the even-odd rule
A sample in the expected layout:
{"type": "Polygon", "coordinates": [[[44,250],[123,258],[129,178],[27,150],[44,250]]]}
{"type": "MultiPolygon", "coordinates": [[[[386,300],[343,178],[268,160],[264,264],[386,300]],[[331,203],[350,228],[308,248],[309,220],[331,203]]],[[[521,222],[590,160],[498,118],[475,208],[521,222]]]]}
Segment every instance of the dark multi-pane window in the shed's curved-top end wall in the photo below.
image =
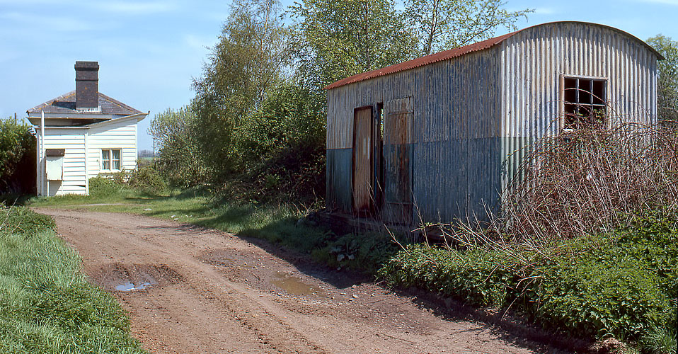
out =
{"type": "Polygon", "coordinates": [[[607,80],[565,76],[565,129],[591,127],[605,116],[607,80]]]}

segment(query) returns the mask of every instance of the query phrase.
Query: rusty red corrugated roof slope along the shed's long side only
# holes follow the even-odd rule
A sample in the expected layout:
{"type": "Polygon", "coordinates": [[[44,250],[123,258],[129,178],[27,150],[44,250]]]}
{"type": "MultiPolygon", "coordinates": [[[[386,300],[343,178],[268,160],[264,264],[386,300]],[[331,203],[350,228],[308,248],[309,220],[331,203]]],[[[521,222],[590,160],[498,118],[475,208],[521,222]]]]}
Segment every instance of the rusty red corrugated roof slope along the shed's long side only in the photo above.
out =
{"type": "Polygon", "coordinates": [[[372,70],[372,72],[362,72],[356,74],[346,79],[341,79],[335,81],[333,84],[329,84],[325,89],[335,89],[339,86],[344,86],[347,84],[353,84],[354,82],[363,81],[367,79],[372,79],[377,76],[384,76],[388,74],[393,74],[395,72],[403,72],[405,70],[414,69],[415,67],[423,67],[424,65],[432,64],[435,62],[442,62],[443,60],[452,59],[454,57],[461,57],[462,55],[469,54],[470,52],[478,52],[479,50],[485,50],[494,45],[498,45],[500,42],[512,36],[515,32],[507,33],[505,35],[500,35],[499,37],[490,38],[488,40],[483,40],[481,42],[476,42],[470,45],[464,45],[464,47],[456,47],[451,50],[445,50],[444,52],[437,52],[432,55],[426,55],[424,57],[418,57],[417,59],[412,59],[408,62],[402,62],[399,64],[391,65],[390,67],[384,67],[377,70],[372,70]]]}

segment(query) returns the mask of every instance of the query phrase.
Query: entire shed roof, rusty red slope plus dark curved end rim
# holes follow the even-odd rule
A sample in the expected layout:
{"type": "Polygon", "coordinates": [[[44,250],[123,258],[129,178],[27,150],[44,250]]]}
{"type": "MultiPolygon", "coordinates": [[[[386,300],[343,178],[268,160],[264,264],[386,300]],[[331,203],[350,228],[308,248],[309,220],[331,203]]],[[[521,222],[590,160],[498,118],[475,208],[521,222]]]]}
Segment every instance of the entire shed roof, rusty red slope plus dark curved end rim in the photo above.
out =
{"type": "Polygon", "coordinates": [[[533,25],[533,26],[530,26],[530,27],[527,27],[527,28],[523,28],[522,30],[517,30],[517,31],[512,32],[512,33],[500,35],[500,36],[495,37],[495,38],[490,38],[488,40],[483,40],[481,42],[476,42],[476,43],[473,43],[473,44],[470,44],[470,45],[464,45],[463,47],[456,47],[456,48],[453,48],[451,50],[445,50],[443,52],[437,52],[435,54],[426,55],[424,57],[418,57],[418,58],[412,59],[408,62],[401,62],[399,64],[391,65],[389,67],[384,67],[384,68],[381,68],[381,69],[372,70],[371,72],[362,72],[360,74],[355,74],[355,75],[347,77],[345,79],[335,81],[333,84],[329,84],[328,86],[326,86],[325,89],[326,90],[336,89],[340,86],[344,86],[344,85],[347,85],[347,84],[353,84],[353,83],[358,82],[358,81],[373,79],[375,77],[393,74],[393,73],[396,73],[396,72],[403,72],[405,70],[414,69],[416,67],[423,67],[425,65],[433,64],[435,62],[442,62],[443,60],[452,59],[452,58],[455,58],[455,57],[461,57],[461,56],[467,55],[471,52],[478,52],[478,51],[481,51],[481,50],[488,49],[490,47],[494,47],[495,45],[500,44],[501,42],[507,40],[508,38],[511,38],[513,35],[516,35],[517,33],[523,32],[525,30],[540,27],[540,26],[543,26],[543,25],[553,25],[553,24],[556,24],[556,23],[558,23],[558,24],[560,24],[560,23],[579,23],[579,24],[582,24],[582,25],[594,25],[594,26],[598,26],[598,27],[602,27],[602,28],[607,28],[609,30],[614,30],[616,32],[627,35],[628,37],[631,37],[635,40],[638,40],[638,42],[642,43],[645,47],[647,47],[648,50],[650,50],[650,52],[655,53],[655,55],[657,55],[657,57],[659,59],[664,59],[664,57],[662,57],[662,55],[660,55],[659,52],[657,52],[657,50],[655,50],[653,47],[650,47],[650,45],[648,45],[648,43],[645,43],[643,40],[640,40],[638,37],[631,35],[630,33],[624,32],[623,30],[620,30],[619,28],[610,27],[609,25],[601,25],[599,23],[580,22],[580,21],[556,21],[556,22],[541,23],[539,25],[533,25]]]}

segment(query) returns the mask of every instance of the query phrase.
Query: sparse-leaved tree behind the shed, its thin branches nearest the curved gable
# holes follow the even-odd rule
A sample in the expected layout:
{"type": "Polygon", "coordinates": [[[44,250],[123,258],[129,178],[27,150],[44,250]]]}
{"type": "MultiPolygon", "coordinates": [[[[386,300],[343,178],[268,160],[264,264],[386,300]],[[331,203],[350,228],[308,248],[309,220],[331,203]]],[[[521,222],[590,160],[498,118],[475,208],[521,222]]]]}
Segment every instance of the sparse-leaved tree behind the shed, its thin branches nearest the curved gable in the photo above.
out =
{"type": "Polygon", "coordinates": [[[405,0],[406,16],[424,55],[491,38],[504,27],[516,30],[532,10],[507,11],[502,0],[405,0]]]}

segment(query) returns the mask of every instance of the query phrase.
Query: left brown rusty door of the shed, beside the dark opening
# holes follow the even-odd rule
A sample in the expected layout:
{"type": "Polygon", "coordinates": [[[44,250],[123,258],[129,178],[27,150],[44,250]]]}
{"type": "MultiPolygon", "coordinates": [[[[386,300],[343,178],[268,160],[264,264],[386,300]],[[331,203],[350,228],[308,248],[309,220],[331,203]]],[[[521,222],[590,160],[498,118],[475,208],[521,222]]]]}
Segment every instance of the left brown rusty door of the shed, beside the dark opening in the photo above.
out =
{"type": "Polygon", "coordinates": [[[372,106],[353,111],[353,212],[364,214],[372,206],[372,106]]]}

